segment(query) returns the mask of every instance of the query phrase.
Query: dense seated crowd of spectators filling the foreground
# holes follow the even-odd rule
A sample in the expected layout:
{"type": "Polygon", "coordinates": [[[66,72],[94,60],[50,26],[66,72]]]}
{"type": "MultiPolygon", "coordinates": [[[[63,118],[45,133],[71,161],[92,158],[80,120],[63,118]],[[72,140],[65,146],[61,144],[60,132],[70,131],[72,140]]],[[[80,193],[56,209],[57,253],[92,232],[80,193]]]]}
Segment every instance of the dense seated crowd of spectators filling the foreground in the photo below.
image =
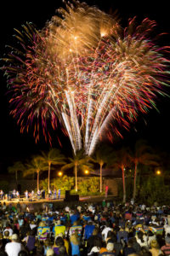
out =
{"type": "Polygon", "coordinates": [[[170,255],[170,207],[0,204],[0,256],[170,255]]]}

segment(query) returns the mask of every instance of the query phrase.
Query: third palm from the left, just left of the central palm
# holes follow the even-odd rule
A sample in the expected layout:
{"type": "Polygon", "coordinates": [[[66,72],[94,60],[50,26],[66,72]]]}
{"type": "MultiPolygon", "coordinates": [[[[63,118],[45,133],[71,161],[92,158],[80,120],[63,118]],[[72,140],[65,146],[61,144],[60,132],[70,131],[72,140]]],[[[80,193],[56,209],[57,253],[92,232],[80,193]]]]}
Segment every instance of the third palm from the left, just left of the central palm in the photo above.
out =
{"type": "Polygon", "coordinates": [[[58,148],[51,148],[48,153],[42,152],[42,159],[44,163],[48,164],[48,191],[50,190],[50,172],[51,165],[63,165],[65,164],[65,156],[60,154],[58,148]]]}

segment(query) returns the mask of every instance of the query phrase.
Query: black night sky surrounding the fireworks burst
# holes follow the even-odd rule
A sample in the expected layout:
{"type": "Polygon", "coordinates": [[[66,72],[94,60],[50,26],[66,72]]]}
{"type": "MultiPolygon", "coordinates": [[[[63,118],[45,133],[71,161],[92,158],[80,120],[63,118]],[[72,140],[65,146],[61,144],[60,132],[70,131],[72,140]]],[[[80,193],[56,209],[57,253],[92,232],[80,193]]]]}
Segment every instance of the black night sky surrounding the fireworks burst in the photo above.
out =
{"type": "MultiPolygon", "coordinates": [[[[148,17],[150,20],[156,20],[156,32],[170,32],[170,16],[167,1],[109,1],[109,0],[88,0],[88,4],[96,5],[99,9],[105,12],[115,11],[117,9],[119,17],[121,18],[122,26],[127,25],[128,18],[137,16],[141,21],[148,17]]],[[[13,45],[14,28],[21,29],[21,25],[26,24],[26,21],[33,22],[37,29],[41,29],[47,20],[55,14],[55,9],[63,5],[62,1],[11,1],[3,3],[0,15],[1,26],[1,40],[0,40],[0,56],[6,52],[5,45],[13,45]]],[[[170,35],[163,37],[161,44],[170,45],[170,35]]],[[[1,90],[0,90],[0,172],[5,172],[8,164],[14,160],[24,160],[31,154],[37,154],[40,149],[45,150],[49,145],[44,141],[36,144],[32,133],[20,134],[20,126],[16,125],[16,120],[9,116],[9,108],[7,101],[7,85],[6,79],[3,78],[3,73],[0,73],[1,90]]],[[[167,88],[167,94],[170,95],[170,89],[167,88]]],[[[170,98],[160,97],[157,101],[157,108],[152,109],[150,113],[139,117],[139,121],[132,125],[130,132],[123,132],[124,140],[116,139],[116,144],[123,145],[125,143],[134,143],[139,138],[145,138],[149,141],[150,145],[161,150],[170,152],[170,122],[169,122],[169,109],[170,98]]],[[[71,155],[71,145],[69,138],[62,135],[60,130],[57,131],[60,141],[63,144],[63,152],[71,155]]],[[[57,137],[53,134],[54,147],[59,147],[57,137]]],[[[112,145],[114,148],[114,144],[112,145]]]]}

